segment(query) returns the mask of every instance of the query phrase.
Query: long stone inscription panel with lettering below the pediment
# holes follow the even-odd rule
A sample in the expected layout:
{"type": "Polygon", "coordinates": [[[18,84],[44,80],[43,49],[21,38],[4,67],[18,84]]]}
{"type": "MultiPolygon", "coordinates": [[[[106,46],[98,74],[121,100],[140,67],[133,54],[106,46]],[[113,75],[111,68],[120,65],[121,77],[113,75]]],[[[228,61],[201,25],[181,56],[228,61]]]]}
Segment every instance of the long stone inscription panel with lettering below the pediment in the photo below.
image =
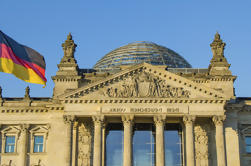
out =
{"type": "Polygon", "coordinates": [[[116,107],[116,106],[103,106],[101,108],[102,113],[109,114],[121,114],[121,113],[133,113],[133,114],[155,114],[155,113],[168,113],[168,114],[184,114],[188,113],[188,107],[116,107]]]}

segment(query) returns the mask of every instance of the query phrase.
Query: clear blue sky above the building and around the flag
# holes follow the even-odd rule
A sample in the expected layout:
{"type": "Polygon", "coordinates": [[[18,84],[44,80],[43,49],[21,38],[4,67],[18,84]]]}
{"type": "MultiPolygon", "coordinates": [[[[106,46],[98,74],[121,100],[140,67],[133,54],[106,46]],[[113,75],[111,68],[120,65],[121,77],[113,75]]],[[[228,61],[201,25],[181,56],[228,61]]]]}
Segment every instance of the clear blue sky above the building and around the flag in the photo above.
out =
{"type": "Polygon", "coordinates": [[[0,29],[46,60],[46,88],[0,73],[4,97],[50,97],[51,76],[63,56],[69,32],[78,45],[80,68],[134,41],[152,41],[182,55],[194,68],[207,68],[210,43],[218,31],[226,42],[236,95],[251,96],[251,1],[242,0],[1,0],[0,29]]]}

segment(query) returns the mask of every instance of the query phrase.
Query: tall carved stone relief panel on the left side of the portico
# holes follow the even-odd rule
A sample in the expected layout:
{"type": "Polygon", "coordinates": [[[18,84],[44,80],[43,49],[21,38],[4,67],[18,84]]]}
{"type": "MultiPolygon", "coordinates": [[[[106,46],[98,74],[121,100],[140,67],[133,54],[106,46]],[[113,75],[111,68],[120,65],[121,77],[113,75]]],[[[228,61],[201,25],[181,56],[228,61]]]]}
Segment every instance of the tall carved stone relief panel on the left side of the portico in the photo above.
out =
{"type": "Polygon", "coordinates": [[[79,125],[78,133],[78,165],[91,165],[91,151],[92,151],[92,133],[91,123],[82,122],[79,125]]]}

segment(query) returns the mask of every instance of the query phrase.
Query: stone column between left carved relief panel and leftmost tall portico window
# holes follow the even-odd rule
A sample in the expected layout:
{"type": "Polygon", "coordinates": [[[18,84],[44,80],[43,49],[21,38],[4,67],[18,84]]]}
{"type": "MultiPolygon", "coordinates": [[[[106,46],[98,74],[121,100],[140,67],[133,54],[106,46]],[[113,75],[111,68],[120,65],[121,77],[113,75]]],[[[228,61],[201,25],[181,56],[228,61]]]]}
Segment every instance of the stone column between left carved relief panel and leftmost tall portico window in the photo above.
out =
{"type": "Polygon", "coordinates": [[[93,116],[94,123],[94,148],[93,148],[93,166],[101,166],[101,127],[104,116],[93,116]]]}

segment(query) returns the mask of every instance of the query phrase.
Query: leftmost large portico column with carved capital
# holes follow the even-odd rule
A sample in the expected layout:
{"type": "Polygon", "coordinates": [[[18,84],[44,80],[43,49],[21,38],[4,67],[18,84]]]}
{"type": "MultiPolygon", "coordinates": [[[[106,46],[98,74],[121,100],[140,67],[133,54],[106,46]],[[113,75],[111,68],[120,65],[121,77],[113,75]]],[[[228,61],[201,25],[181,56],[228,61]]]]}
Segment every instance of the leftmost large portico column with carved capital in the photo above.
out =
{"type": "Polygon", "coordinates": [[[64,123],[66,124],[66,147],[65,147],[65,161],[66,161],[66,165],[71,166],[71,154],[72,154],[72,147],[71,147],[71,143],[72,143],[72,124],[75,120],[75,116],[74,115],[64,115],[64,123]]]}

